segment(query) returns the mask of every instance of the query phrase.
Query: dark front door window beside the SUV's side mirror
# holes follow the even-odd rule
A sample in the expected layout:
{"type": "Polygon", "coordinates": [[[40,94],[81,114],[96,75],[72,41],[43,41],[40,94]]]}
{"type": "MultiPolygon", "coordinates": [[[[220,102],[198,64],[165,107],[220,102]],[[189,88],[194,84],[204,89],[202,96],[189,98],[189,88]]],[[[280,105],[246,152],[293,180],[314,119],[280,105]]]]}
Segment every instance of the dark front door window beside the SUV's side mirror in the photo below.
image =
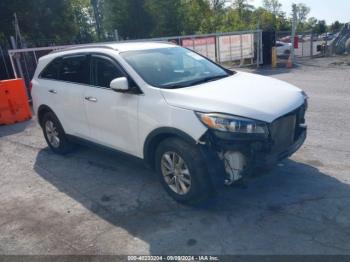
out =
{"type": "Polygon", "coordinates": [[[111,81],[123,77],[123,72],[113,60],[101,56],[92,56],[93,83],[95,86],[109,88],[111,81]]]}

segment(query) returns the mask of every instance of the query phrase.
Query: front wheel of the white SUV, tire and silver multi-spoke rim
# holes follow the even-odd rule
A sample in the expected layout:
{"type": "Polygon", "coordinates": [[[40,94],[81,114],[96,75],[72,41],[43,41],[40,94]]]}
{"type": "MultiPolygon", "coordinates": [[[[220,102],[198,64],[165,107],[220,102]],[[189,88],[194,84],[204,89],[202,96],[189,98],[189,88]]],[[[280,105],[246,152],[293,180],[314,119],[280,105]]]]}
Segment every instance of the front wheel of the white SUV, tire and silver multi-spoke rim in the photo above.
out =
{"type": "Polygon", "coordinates": [[[163,187],[178,202],[200,203],[214,192],[201,152],[181,139],[169,138],[158,146],[156,168],[163,187]]]}

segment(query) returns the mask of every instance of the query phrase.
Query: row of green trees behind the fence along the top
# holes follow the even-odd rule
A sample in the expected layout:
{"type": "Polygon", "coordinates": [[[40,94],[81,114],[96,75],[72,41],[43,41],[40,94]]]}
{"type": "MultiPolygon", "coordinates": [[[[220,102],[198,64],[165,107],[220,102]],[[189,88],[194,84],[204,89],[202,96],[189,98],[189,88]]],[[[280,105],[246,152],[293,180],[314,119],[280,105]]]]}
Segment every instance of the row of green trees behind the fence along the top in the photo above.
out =
{"type": "MultiPolygon", "coordinates": [[[[103,40],[106,33],[122,39],[261,29],[290,30],[291,20],[279,0],[264,0],[254,9],[252,0],[2,0],[0,39],[14,35],[16,12],[22,35],[34,45],[103,40]]],[[[325,23],[307,19],[310,9],[295,5],[299,30],[325,23]]],[[[339,30],[340,23],[331,26],[339,30]]]]}

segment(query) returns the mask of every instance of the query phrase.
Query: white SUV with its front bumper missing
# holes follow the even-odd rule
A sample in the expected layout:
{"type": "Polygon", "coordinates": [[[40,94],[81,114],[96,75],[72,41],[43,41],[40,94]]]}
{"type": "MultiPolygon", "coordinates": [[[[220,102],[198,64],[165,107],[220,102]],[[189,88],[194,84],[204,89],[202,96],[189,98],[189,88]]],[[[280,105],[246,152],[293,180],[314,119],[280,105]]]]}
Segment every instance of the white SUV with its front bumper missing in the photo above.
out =
{"type": "Polygon", "coordinates": [[[55,153],[78,141],[142,158],[183,203],[289,157],[306,138],[303,91],[169,43],[53,52],[39,60],[32,98],[55,153]]]}

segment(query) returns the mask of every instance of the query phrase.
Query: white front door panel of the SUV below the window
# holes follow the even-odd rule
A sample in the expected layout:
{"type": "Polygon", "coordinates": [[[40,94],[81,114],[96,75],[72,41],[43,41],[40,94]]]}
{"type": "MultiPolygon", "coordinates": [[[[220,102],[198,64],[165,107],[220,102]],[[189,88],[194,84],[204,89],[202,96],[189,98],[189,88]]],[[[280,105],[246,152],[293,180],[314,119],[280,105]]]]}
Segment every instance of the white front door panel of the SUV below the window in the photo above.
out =
{"type": "Polygon", "coordinates": [[[139,96],[110,89],[89,87],[84,99],[93,142],[137,155],[139,96]]]}

